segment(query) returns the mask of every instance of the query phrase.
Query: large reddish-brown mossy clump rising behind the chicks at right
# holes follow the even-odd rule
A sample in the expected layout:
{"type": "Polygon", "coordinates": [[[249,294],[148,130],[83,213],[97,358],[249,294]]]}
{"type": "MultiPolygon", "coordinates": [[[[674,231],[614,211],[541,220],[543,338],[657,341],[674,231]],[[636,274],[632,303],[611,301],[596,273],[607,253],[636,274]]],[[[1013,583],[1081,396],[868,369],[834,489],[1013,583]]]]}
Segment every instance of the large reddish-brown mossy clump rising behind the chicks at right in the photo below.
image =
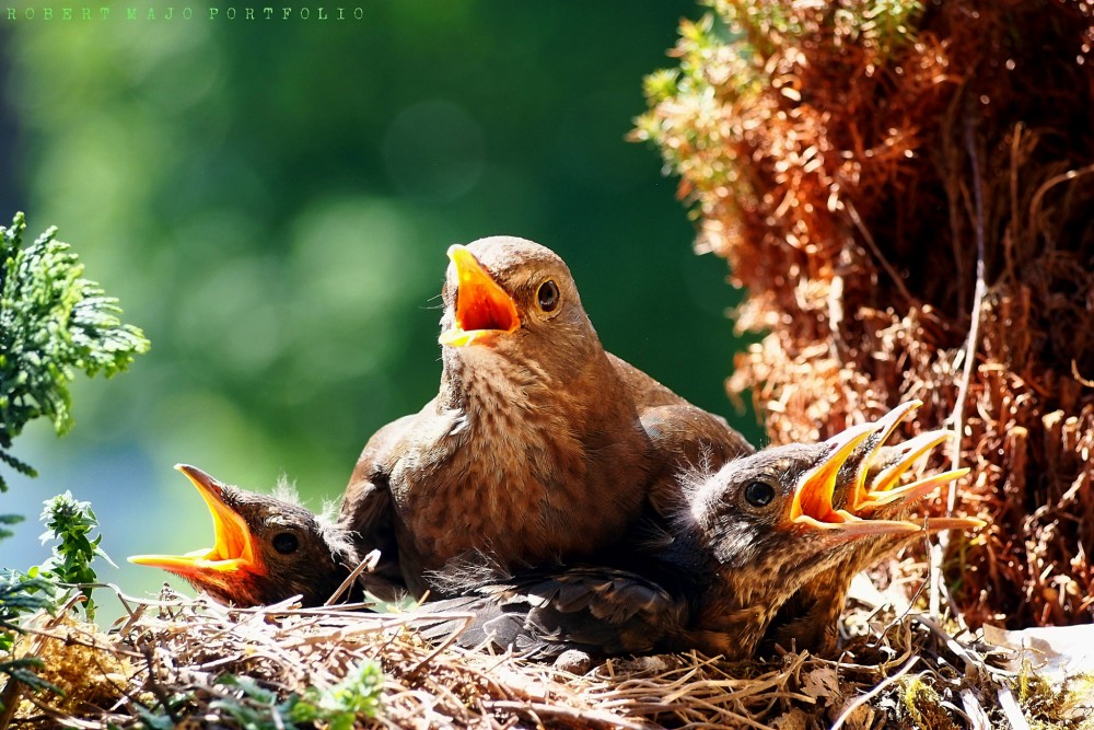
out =
{"type": "Polygon", "coordinates": [[[1092,5],[712,8],[636,136],[747,290],[738,328],[767,333],[730,391],[776,442],[921,398],[974,467],[958,511],[990,523],[951,545],[966,617],[1091,621],[1092,5]]]}

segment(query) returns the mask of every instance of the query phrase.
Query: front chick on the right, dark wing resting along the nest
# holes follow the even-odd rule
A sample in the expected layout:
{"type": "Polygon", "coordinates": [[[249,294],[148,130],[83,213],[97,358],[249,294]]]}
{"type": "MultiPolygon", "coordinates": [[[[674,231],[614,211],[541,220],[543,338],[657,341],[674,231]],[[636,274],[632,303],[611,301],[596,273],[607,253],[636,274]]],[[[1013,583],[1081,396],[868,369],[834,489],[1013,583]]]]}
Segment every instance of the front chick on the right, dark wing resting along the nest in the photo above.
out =
{"type": "MultiPolygon", "coordinates": [[[[693,479],[673,519],[674,540],[663,559],[678,580],[598,567],[535,570],[501,580],[472,575],[467,595],[426,606],[470,612],[465,646],[489,642],[534,659],[579,649],[597,654],[698,649],[729,659],[750,657],[783,602],[830,571],[864,542],[908,540],[923,526],[907,520],[861,519],[831,498],[857,478],[887,437],[868,424],[819,444],[790,444],[725,464],[693,479]],[[865,441],[872,445],[860,449],[865,441]]],[[[934,487],[950,475],[934,478],[934,487]]],[[[904,505],[921,496],[905,490],[904,505]]],[[[952,520],[947,528],[975,528],[952,520]]],[[[932,523],[928,530],[940,529],[932,523]]],[[[818,616],[835,623],[838,618],[818,616]]],[[[429,629],[433,637],[458,622],[429,629]]]]}

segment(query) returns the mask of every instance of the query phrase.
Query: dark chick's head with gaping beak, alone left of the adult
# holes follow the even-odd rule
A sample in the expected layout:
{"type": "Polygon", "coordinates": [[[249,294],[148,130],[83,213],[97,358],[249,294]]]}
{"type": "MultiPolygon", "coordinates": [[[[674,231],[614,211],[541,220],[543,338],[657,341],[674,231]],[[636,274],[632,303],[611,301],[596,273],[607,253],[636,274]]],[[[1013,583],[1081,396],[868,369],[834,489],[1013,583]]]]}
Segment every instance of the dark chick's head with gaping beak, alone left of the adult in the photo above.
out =
{"type": "Polygon", "coordinates": [[[187,464],[175,468],[209,507],[213,546],[185,555],[136,555],[130,563],[163,568],[238,606],[293,595],[300,595],[304,606],[323,605],[357,567],[350,535],[288,495],[271,497],[224,485],[187,464]]]}

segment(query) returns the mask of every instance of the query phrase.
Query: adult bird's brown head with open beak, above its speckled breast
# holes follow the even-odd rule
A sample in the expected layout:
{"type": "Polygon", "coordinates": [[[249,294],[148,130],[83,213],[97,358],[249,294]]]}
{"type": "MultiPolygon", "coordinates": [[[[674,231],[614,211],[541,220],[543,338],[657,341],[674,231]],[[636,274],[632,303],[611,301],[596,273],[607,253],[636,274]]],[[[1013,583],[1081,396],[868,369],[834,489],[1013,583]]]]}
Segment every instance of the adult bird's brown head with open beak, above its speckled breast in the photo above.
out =
{"type": "Polygon", "coordinates": [[[572,363],[600,347],[570,269],[549,248],[492,236],[454,244],[449,258],[440,336],[446,352],[572,363]]]}

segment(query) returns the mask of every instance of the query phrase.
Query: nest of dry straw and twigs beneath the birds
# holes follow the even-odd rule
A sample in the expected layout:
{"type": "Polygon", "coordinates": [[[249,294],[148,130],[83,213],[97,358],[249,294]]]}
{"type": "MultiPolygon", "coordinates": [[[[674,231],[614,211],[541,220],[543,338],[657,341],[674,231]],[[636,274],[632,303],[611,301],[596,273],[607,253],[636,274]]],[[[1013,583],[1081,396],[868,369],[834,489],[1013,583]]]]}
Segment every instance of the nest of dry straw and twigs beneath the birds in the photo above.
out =
{"type": "Polygon", "coordinates": [[[129,617],[110,634],[42,616],[24,637],[47,662],[43,677],[65,694],[24,688],[13,727],[287,727],[278,710],[287,698],[335,687],[368,664],[383,671],[376,712],[353,727],[953,728],[961,715],[998,725],[1010,698],[1047,728],[1078,727],[1091,709],[1079,686],[1049,687],[970,637],[881,606],[856,614],[872,628],[839,661],[693,653],[574,674],[462,649],[455,636],[426,642],[416,629],[435,616],[421,610],[236,610],[167,590],[155,601],[119,599],[129,617]]]}

